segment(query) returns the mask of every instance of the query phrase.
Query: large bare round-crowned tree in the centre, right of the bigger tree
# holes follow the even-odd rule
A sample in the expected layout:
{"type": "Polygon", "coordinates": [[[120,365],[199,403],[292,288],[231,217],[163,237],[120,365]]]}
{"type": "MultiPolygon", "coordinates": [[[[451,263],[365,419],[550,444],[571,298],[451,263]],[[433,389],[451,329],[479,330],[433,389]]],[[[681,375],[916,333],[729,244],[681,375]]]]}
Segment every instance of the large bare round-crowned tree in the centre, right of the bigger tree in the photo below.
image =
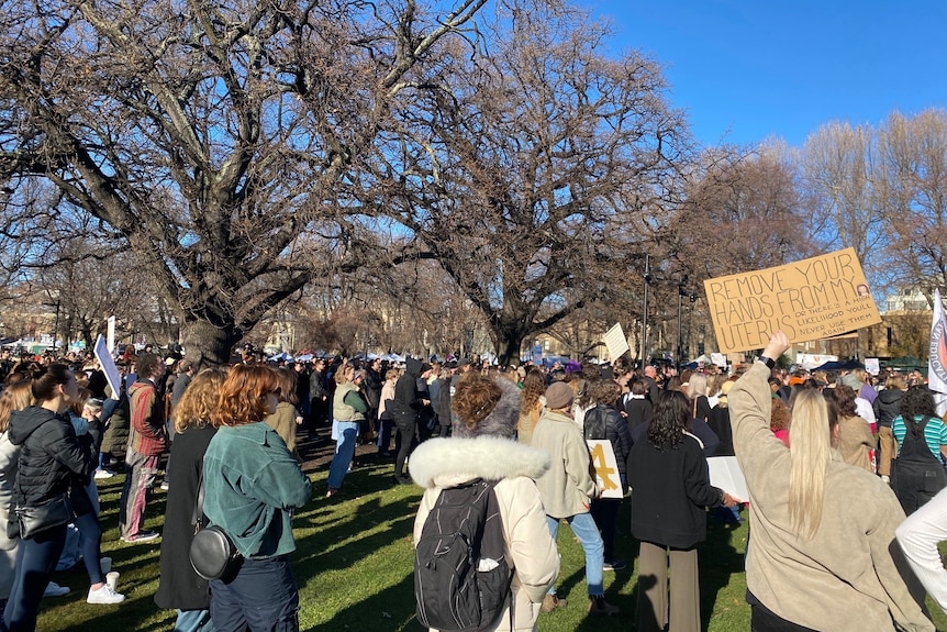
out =
{"type": "Polygon", "coordinates": [[[587,15],[513,7],[480,33],[489,54],[455,42],[378,159],[402,176],[381,178],[401,258],[435,258],[505,362],[575,310],[626,298],[689,145],[658,65],[603,56],[608,30],[587,15]]]}

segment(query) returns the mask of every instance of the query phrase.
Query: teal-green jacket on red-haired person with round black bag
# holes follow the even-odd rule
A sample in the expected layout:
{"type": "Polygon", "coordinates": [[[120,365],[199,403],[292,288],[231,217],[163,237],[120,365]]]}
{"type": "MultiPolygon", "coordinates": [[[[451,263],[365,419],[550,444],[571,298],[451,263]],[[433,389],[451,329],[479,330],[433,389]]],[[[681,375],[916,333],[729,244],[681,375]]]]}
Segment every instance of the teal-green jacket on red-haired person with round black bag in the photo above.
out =
{"type": "Polygon", "coordinates": [[[204,454],[204,515],[244,557],[296,550],[292,510],[309,502],[309,478],[264,422],[223,426],[204,454]]]}

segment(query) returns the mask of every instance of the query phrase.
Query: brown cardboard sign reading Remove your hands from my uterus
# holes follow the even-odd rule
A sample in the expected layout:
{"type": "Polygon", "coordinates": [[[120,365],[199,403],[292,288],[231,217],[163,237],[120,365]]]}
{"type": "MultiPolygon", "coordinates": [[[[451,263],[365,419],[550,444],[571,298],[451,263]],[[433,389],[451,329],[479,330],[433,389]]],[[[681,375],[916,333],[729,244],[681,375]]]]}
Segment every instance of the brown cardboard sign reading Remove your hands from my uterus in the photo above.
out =
{"type": "Polygon", "coordinates": [[[766,346],[782,330],[792,342],[881,322],[854,248],[704,281],[723,353],[766,346]]]}

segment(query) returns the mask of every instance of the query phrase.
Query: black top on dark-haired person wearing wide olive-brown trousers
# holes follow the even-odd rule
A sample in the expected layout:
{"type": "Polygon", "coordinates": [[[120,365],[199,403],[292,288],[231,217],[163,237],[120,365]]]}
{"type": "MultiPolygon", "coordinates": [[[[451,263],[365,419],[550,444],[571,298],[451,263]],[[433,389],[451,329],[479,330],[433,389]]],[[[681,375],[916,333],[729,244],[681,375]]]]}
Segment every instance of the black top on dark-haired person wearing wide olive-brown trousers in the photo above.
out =
{"type": "Polygon", "coordinates": [[[706,507],[723,501],[710,484],[700,444],[684,436],[660,451],[650,441],[635,442],[628,459],[632,486],[632,534],[659,546],[690,548],[706,539],[706,507]]]}

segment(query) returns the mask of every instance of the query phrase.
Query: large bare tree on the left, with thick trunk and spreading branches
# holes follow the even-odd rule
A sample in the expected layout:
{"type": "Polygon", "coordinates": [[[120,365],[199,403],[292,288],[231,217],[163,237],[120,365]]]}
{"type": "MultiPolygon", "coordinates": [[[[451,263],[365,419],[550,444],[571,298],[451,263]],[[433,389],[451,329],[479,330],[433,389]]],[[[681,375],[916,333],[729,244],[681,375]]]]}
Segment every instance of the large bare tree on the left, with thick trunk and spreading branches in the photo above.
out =
{"type": "Polygon", "coordinates": [[[3,195],[45,179],[105,222],[188,354],[225,362],[313,277],[301,234],[359,264],[342,250],[353,174],[484,2],[4,0],[3,195]]]}

